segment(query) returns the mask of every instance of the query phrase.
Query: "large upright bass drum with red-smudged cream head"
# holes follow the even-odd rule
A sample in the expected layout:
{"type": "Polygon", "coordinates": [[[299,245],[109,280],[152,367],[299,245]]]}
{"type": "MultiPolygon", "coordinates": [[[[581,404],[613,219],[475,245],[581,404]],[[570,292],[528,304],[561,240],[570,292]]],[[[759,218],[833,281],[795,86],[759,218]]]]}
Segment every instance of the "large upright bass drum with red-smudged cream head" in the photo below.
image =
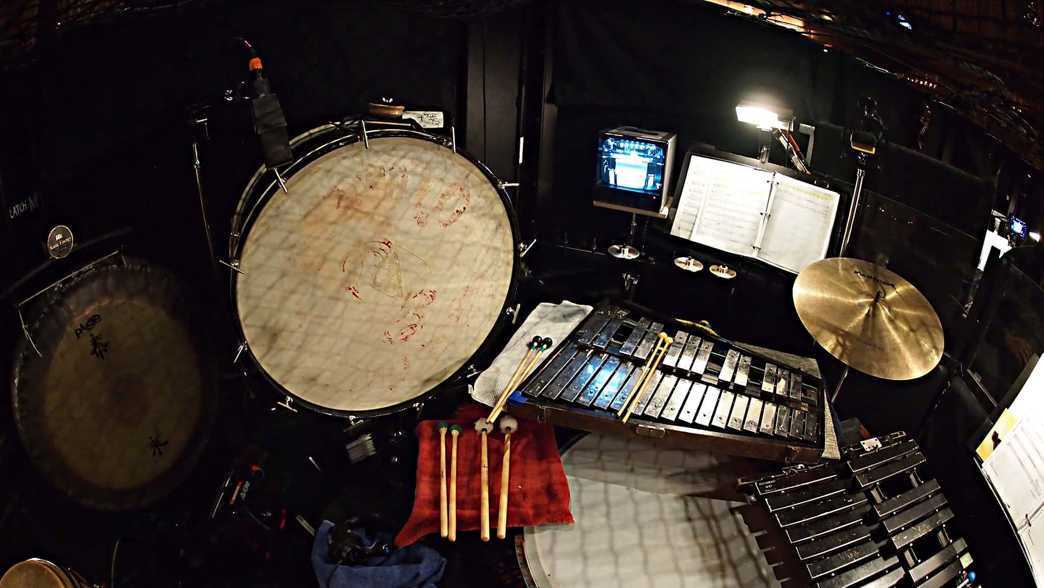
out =
{"type": "Polygon", "coordinates": [[[231,295],[247,357],[334,416],[395,413],[485,351],[507,317],[518,228],[483,165],[402,125],[328,124],[263,168],[233,218],[231,295]]]}

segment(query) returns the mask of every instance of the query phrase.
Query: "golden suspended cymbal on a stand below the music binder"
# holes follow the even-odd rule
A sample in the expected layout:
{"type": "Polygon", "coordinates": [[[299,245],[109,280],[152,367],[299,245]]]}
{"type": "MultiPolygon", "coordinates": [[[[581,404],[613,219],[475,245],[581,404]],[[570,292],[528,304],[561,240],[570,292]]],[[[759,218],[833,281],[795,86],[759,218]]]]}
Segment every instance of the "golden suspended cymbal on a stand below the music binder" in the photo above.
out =
{"type": "Polygon", "coordinates": [[[943,357],[943,325],[909,282],[869,261],[816,261],[793,283],[802,324],[831,355],[887,380],[919,378],[943,357]]]}

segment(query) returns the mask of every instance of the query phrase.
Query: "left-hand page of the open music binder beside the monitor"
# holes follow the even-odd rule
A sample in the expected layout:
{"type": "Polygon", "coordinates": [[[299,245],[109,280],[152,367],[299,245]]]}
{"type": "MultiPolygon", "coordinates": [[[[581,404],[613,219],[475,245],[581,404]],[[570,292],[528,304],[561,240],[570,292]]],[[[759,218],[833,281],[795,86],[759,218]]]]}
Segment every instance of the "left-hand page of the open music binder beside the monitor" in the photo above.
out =
{"type": "Polygon", "coordinates": [[[753,255],[768,204],[773,173],[731,162],[710,161],[713,177],[692,231],[692,240],[740,255],[753,255]]]}

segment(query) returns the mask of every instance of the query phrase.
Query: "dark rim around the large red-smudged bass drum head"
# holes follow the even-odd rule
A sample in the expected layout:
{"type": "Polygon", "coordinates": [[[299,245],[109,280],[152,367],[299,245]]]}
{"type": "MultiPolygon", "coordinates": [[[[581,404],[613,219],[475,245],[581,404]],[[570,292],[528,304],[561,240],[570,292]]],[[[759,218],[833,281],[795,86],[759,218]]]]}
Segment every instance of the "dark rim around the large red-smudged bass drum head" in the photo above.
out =
{"type": "MultiPolygon", "coordinates": [[[[380,123],[375,121],[374,124],[380,124],[380,123]]],[[[338,149],[340,147],[353,143],[357,143],[362,140],[360,132],[356,132],[354,128],[351,128],[348,124],[330,123],[317,126],[315,128],[312,128],[310,131],[307,131],[299,135],[298,137],[294,137],[293,140],[290,141],[290,147],[296,148],[299,146],[304,145],[306,142],[324,138],[328,134],[337,134],[338,132],[342,134],[331,137],[329,140],[326,140],[317,144],[316,146],[310,148],[307,154],[293,160],[293,162],[290,163],[286,169],[281,171],[280,175],[282,177],[282,180],[284,182],[289,180],[290,178],[293,177],[294,173],[301,171],[302,169],[307,167],[310,163],[323,157],[324,155],[327,155],[335,149],[338,149]]],[[[440,137],[437,135],[432,135],[430,133],[417,131],[413,128],[409,130],[379,128],[379,130],[366,131],[367,140],[395,138],[395,137],[421,139],[435,143],[437,145],[442,145],[447,149],[451,148],[447,146],[447,140],[445,138],[440,137]]],[[[516,218],[515,215],[515,208],[512,204],[511,196],[507,195],[507,192],[500,185],[500,181],[497,179],[496,175],[494,175],[494,173],[490,170],[490,168],[488,168],[477,159],[471,157],[467,151],[464,151],[462,149],[454,148],[452,152],[465,158],[469,163],[474,165],[482,173],[482,175],[484,175],[485,179],[490,182],[490,185],[493,187],[494,191],[496,191],[497,195],[500,196],[500,203],[504,207],[504,211],[507,214],[507,221],[512,229],[513,245],[512,245],[511,283],[507,286],[507,293],[504,297],[504,304],[500,308],[500,313],[497,316],[496,323],[490,330],[489,334],[487,334],[485,338],[482,340],[482,344],[478,346],[478,349],[476,349],[475,352],[471,354],[471,356],[469,356],[469,358],[456,371],[447,376],[446,379],[432,385],[427,391],[412,398],[404,400],[402,402],[398,402],[396,404],[390,404],[388,406],[383,406],[380,408],[372,408],[366,410],[342,410],[338,408],[331,408],[329,406],[324,406],[322,404],[316,404],[314,402],[301,398],[300,396],[288,391],[285,386],[276,381],[276,379],[272,378],[268,374],[268,372],[266,372],[261,367],[261,362],[254,355],[253,350],[250,348],[248,345],[245,344],[246,335],[243,331],[242,321],[239,317],[239,309],[237,308],[236,304],[236,301],[238,300],[236,286],[237,286],[239,272],[232,271],[229,277],[229,296],[231,302],[233,322],[235,323],[236,326],[236,334],[239,339],[239,345],[243,346],[240,356],[245,356],[250,359],[250,366],[252,368],[252,371],[260,375],[261,378],[277,392],[278,395],[292,399],[294,405],[300,404],[314,413],[318,413],[321,415],[327,415],[329,417],[348,418],[348,419],[352,418],[370,419],[375,417],[395,415],[402,413],[403,410],[406,410],[410,407],[416,407],[419,403],[423,404],[432,396],[438,394],[440,392],[443,392],[444,390],[446,390],[446,386],[450,384],[450,382],[458,380],[460,376],[462,376],[465,373],[468,372],[468,369],[474,364],[475,358],[483,357],[484,355],[489,354],[492,351],[493,343],[495,343],[497,335],[503,331],[504,325],[507,319],[509,317],[507,309],[514,307],[516,293],[518,289],[518,280],[520,271],[519,265],[521,259],[519,257],[519,246],[518,246],[519,243],[521,242],[518,219],[516,218]]],[[[264,184],[264,178],[266,175],[266,171],[267,169],[264,166],[258,168],[258,170],[254,173],[254,177],[251,179],[250,183],[246,185],[246,188],[243,190],[243,193],[240,195],[239,202],[236,204],[236,211],[232,218],[232,231],[229,235],[229,254],[233,260],[239,259],[243,246],[246,243],[247,235],[250,234],[251,229],[254,226],[254,221],[258,217],[258,214],[261,212],[261,210],[264,209],[265,205],[276,193],[276,191],[281,189],[278,179],[274,177],[267,181],[267,185],[264,184]]],[[[242,357],[240,357],[240,359],[242,359],[242,357]]],[[[243,374],[248,377],[250,374],[246,371],[245,364],[243,364],[241,369],[243,371],[243,374]]]]}

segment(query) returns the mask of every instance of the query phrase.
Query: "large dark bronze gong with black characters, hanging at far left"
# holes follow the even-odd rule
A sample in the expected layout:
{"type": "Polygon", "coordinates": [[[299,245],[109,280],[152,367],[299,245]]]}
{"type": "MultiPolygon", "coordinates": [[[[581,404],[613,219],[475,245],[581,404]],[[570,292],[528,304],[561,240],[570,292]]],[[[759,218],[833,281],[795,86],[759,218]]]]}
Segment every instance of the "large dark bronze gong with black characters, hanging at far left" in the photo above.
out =
{"type": "Polygon", "coordinates": [[[80,504],[127,511],[191,471],[217,415],[217,376],[192,297],[122,255],[49,289],[15,354],[19,437],[44,477],[80,504]]]}

